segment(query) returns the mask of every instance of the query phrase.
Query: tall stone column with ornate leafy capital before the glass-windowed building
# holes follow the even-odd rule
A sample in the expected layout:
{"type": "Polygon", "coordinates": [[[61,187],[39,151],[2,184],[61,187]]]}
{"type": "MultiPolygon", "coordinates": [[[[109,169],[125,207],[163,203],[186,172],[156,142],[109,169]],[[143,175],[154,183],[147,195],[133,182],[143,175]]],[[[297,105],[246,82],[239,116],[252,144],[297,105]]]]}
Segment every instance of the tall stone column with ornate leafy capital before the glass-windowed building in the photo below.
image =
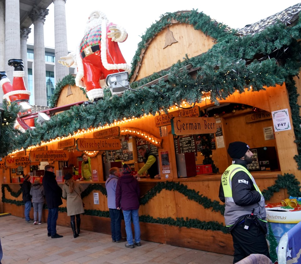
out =
{"type": "Polygon", "coordinates": [[[47,106],[44,22],[48,9],[34,8],[29,18],[34,24],[34,103],[47,106]]]}

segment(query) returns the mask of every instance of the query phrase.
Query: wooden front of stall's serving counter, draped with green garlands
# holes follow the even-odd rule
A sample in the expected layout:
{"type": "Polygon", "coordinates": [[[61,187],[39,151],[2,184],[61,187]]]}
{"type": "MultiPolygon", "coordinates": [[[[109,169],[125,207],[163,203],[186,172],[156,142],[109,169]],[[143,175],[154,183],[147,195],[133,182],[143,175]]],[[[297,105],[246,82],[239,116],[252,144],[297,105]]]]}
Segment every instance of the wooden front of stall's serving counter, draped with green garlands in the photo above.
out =
{"type": "MultiPolygon", "coordinates": [[[[275,184],[280,172],[252,173],[261,190],[275,184]]],[[[224,226],[224,204],[219,201],[221,175],[200,175],[191,178],[165,180],[142,179],[139,181],[141,239],[174,246],[233,254],[233,242],[224,226]]],[[[85,213],[82,230],[110,234],[105,182],[81,182],[85,213]],[[99,204],[94,204],[98,193],[99,204]]],[[[59,184],[61,185],[61,184],[59,184]]],[[[3,211],[24,217],[24,205],[20,185],[2,184],[3,211]]],[[[269,203],[281,201],[285,190],[274,193],[269,203]]],[[[33,210],[31,210],[33,214],[33,210]]],[[[43,211],[46,222],[47,210],[43,211]]],[[[60,206],[58,225],[70,226],[66,214],[66,200],[60,206]]],[[[45,225],[46,228],[46,225],[45,225]]],[[[82,232],[81,235],[85,233],[82,232]]],[[[122,235],[126,236],[122,221],[122,235]]]]}

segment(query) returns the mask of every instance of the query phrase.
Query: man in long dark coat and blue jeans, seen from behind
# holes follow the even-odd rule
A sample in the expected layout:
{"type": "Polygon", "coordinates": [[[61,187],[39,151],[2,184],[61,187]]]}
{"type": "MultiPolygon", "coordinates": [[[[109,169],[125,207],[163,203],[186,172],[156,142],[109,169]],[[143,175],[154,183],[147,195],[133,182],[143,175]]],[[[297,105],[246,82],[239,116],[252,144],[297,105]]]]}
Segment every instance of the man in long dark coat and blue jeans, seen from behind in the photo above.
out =
{"type": "Polygon", "coordinates": [[[63,237],[56,233],[56,220],[59,214],[59,206],[62,202],[62,189],[55,180],[54,166],[46,165],[43,177],[43,187],[45,191],[46,203],[48,207],[47,230],[51,238],[63,237]]]}

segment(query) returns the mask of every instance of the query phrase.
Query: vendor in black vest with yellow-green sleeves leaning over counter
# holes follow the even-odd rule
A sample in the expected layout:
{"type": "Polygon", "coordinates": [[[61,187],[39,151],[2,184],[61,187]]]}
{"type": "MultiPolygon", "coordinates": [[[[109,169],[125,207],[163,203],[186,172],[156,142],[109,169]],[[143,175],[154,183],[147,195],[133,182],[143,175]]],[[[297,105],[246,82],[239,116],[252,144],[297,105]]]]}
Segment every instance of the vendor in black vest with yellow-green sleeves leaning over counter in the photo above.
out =
{"type": "Polygon", "coordinates": [[[138,153],[143,157],[143,162],[145,164],[135,175],[135,177],[138,177],[146,172],[145,174],[148,174],[150,178],[155,178],[155,176],[158,174],[158,161],[156,154],[151,153],[150,150],[146,150],[145,147],[140,147],[138,149],[138,153]]]}

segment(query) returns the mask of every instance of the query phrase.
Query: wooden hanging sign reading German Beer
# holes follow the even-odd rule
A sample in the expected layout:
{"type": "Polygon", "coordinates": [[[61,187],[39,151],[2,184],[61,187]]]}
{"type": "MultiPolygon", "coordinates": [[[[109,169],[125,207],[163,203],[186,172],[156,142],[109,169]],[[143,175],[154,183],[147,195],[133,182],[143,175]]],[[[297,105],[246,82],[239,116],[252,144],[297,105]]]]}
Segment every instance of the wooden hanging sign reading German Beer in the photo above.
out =
{"type": "Polygon", "coordinates": [[[196,135],[216,132],[213,117],[175,117],[171,120],[173,135],[196,135]]]}

